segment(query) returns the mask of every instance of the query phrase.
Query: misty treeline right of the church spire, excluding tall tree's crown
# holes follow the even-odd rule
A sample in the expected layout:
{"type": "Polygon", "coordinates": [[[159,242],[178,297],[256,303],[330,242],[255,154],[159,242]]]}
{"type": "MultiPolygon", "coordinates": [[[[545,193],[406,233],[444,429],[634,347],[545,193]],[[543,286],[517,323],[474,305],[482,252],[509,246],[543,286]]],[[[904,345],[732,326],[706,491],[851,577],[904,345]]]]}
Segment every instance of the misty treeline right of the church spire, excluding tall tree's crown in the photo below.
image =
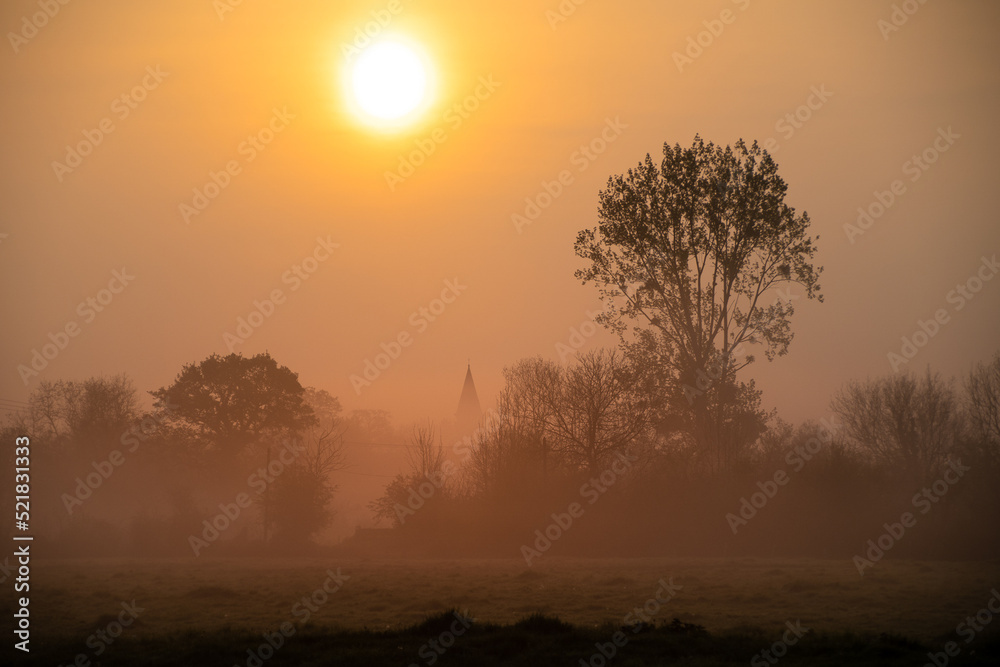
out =
{"type": "Polygon", "coordinates": [[[397,478],[373,509],[409,553],[531,562],[1000,553],[1000,355],[961,382],[928,372],[851,383],[821,422],[736,420],[724,455],[658,420],[632,394],[641,383],[616,385],[619,362],[513,366],[472,438],[397,478]]]}

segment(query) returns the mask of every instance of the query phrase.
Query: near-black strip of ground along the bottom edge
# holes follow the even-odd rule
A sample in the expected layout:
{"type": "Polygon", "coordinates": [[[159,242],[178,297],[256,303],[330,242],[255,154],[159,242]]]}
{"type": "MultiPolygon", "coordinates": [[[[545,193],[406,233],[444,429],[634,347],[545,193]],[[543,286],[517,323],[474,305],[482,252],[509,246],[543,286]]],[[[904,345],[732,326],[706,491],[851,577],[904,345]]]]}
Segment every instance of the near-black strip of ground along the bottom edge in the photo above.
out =
{"type": "MultiPolygon", "coordinates": [[[[891,635],[823,635],[806,633],[795,645],[780,647],[780,660],[762,654],[775,637],[748,630],[722,635],[680,621],[655,627],[577,628],[551,617],[531,616],[514,625],[472,622],[461,636],[449,637],[457,617],[441,614],[398,631],[331,631],[305,629],[285,638],[271,651],[265,638],[248,631],[187,633],[152,640],[122,637],[91,664],[201,665],[277,667],[279,665],[342,665],[358,667],[410,665],[912,665],[934,664],[928,652],[940,645],[922,644],[891,635]],[[635,630],[640,630],[636,632],[635,630]],[[617,635],[619,646],[613,640],[617,635]],[[433,642],[433,643],[432,643],[433,642]],[[444,644],[449,648],[445,649],[444,644]],[[602,655],[610,654],[610,659],[602,655]],[[612,650],[614,653],[612,654],[612,650]]],[[[273,639],[273,635],[272,635],[273,639]]],[[[273,640],[274,643],[279,643],[273,640]]],[[[780,641],[780,637],[778,639],[780,641]]],[[[78,637],[35,646],[32,664],[69,665],[80,649],[78,637]]],[[[954,658],[938,655],[938,665],[998,665],[1000,640],[978,638],[974,648],[963,646],[954,658]]]]}

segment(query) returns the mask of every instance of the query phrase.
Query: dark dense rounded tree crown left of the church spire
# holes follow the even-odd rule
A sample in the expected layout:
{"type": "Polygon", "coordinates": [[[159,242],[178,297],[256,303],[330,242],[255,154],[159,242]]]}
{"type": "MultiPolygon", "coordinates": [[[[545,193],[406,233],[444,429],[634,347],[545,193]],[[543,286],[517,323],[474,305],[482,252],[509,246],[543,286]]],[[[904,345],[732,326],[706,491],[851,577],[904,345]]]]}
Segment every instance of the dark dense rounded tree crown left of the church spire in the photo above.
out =
{"type": "Polygon", "coordinates": [[[207,451],[227,456],[316,424],[298,375],[267,353],[249,359],[214,354],[150,394],[165,421],[192,431],[207,451]]]}

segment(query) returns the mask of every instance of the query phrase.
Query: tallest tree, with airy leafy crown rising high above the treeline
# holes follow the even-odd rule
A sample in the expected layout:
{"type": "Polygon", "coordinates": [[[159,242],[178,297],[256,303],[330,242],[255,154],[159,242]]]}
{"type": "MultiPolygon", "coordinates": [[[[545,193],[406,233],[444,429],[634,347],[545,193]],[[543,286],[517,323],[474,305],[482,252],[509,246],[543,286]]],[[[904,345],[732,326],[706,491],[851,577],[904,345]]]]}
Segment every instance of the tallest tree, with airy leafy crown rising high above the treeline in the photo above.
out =
{"type": "Polygon", "coordinates": [[[756,142],[722,148],[696,136],[691,148],[665,144],[658,165],[647,155],[610,178],[597,227],[576,240],[589,262],[576,275],[605,301],[598,321],[657,369],[659,391],[690,413],[719,467],[729,464],[718,432],[725,393],[735,396],[736,373],[754,360],[747,347],[770,360],[792,340],[791,298],[769,293],[795,284],[822,301],[809,216],[785,204],[786,190],[756,142]]]}

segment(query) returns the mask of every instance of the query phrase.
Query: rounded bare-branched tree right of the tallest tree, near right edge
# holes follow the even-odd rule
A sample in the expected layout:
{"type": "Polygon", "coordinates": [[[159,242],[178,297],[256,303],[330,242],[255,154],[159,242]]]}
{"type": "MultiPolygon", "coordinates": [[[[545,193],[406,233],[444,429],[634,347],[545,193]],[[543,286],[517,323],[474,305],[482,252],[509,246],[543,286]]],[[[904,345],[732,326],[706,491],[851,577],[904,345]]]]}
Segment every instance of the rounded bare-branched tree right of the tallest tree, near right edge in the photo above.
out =
{"type": "Polygon", "coordinates": [[[848,442],[874,461],[927,479],[961,433],[958,399],[940,375],[851,382],[833,400],[848,442]]]}

